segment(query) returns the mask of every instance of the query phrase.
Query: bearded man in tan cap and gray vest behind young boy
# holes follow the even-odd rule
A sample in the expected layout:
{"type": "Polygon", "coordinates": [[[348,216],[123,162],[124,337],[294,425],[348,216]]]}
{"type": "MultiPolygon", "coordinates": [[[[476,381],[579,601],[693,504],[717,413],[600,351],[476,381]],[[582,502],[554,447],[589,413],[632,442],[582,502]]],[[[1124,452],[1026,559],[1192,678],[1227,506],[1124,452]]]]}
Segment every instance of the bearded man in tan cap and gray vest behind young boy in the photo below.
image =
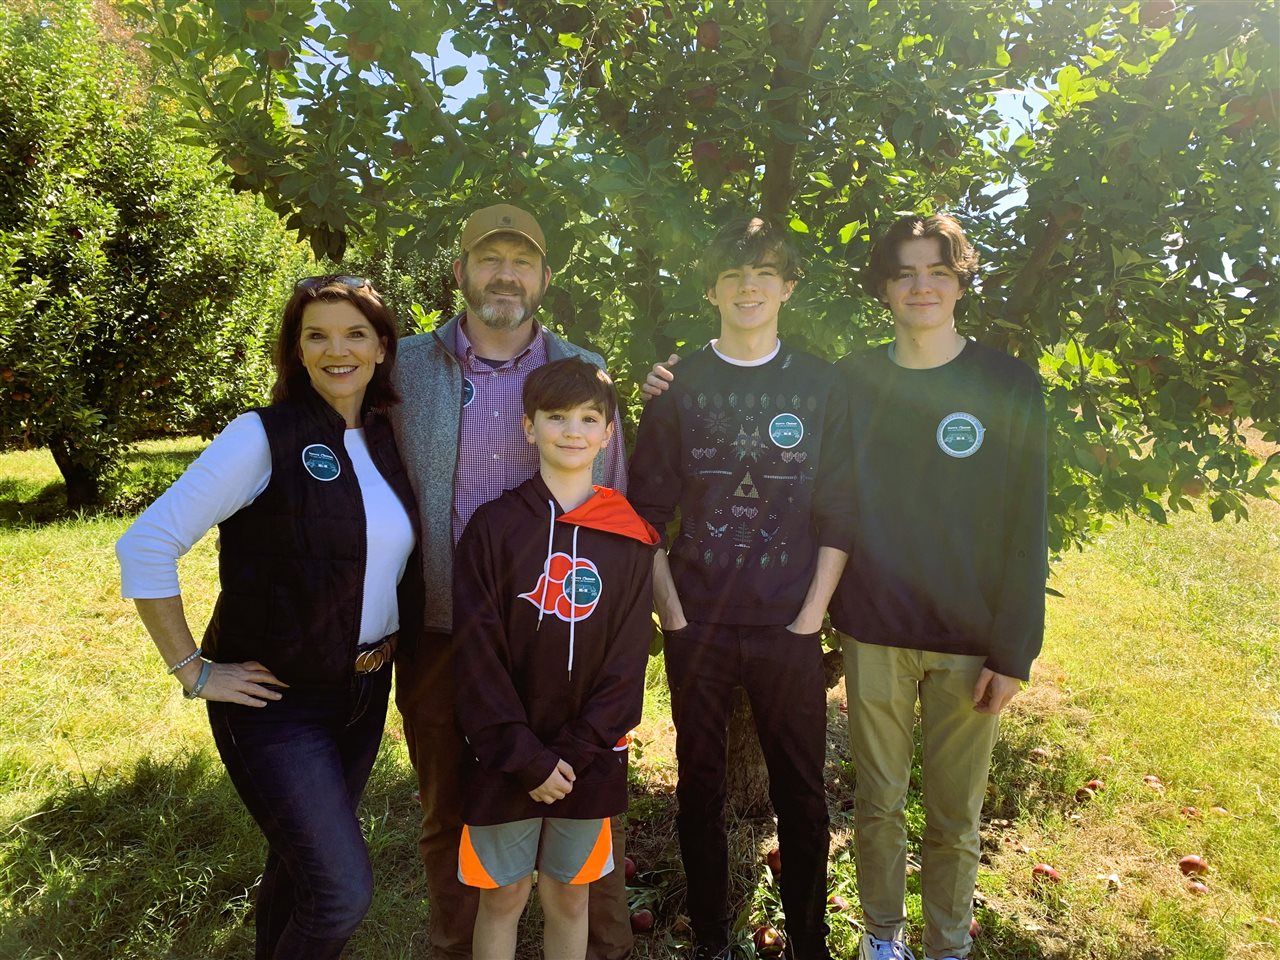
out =
{"type": "MultiPolygon", "coordinates": [[[[426,634],[416,650],[397,658],[396,704],[422,797],[420,847],[438,960],[471,957],[477,904],[475,888],[457,879],[465,745],[454,722],[449,657],[453,548],[480,504],[538,470],[538,451],[522,425],[521,390],[529,372],[570,356],[604,366],[602,357],[534,319],[552,274],[545,237],[531,214],[508,204],[477,210],[462,229],[461,247],[453,276],[467,308],[430,333],[401,340],[396,387],[403,403],[392,413],[422,524],[426,634]]],[[[594,476],[625,489],[618,422],[594,476]]],[[[618,820],[613,845],[622,863],[618,820]]],[[[591,884],[589,957],[631,955],[623,884],[621,869],[591,884]]]]}

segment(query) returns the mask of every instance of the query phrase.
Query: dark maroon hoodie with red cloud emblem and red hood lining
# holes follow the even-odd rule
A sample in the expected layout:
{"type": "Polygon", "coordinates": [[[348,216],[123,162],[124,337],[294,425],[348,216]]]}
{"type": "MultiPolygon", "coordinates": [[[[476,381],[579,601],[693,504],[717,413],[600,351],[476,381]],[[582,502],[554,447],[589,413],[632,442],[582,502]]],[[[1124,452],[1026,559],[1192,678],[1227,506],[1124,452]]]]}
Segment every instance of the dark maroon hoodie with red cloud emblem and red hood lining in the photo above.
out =
{"type": "Polygon", "coordinates": [[[653,637],[658,532],[604,486],[567,513],[540,475],[476,511],[453,562],[453,675],[468,824],[627,808],[627,732],[653,637]],[[566,760],[563,800],[529,791],[566,760]]]}

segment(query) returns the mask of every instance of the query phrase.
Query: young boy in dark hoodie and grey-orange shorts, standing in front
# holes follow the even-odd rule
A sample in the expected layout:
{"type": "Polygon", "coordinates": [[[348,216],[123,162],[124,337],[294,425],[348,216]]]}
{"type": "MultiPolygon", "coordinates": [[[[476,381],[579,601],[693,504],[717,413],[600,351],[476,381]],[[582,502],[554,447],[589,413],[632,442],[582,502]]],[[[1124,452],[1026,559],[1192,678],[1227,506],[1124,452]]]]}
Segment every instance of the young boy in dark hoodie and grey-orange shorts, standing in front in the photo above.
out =
{"type": "Polygon", "coordinates": [[[531,874],[544,955],[586,955],[588,887],[614,869],[609,818],[627,806],[627,731],[653,635],[657,531],[593,486],[613,433],[608,376],[576,357],[524,388],[539,471],[476,511],[453,576],[463,773],[458,879],[480,888],[474,951],[512,957],[531,874]]]}

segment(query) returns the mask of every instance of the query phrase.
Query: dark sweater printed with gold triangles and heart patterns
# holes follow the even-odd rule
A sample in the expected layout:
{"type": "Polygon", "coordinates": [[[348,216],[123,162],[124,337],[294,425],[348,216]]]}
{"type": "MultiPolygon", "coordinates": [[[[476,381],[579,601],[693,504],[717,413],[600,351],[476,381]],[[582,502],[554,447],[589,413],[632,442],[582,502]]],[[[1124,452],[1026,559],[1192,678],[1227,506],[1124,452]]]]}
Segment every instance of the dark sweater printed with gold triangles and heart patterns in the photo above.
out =
{"type": "Polygon", "coordinates": [[[705,623],[786,625],[819,547],[847,550],[847,408],[836,369],[782,344],[736,366],[708,344],[640,419],[628,495],[663,530],[680,511],[671,575],[705,623]]]}

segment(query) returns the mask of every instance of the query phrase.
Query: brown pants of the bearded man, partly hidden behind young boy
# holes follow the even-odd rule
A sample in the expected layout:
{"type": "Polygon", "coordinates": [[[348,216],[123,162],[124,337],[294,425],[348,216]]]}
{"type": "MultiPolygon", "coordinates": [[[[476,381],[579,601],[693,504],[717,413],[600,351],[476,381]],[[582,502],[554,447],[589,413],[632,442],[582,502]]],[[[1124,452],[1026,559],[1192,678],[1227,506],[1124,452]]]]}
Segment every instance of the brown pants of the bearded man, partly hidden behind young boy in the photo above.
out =
{"type": "MultiPolygon", "coordinates": [[[[422,797],[419,849],[431,904],[431,957],[471,960],[479,891],[458,882],[462,837],[461,762],[465,744],[453,719],[449,637],[428,634],[412,657],[396,660],[396,705],[422,797]]],[[[627,911],[626,819],[613,819],[613,872],[591,884],[588,960],[627,960],[634,948],[627,911]]]]}

